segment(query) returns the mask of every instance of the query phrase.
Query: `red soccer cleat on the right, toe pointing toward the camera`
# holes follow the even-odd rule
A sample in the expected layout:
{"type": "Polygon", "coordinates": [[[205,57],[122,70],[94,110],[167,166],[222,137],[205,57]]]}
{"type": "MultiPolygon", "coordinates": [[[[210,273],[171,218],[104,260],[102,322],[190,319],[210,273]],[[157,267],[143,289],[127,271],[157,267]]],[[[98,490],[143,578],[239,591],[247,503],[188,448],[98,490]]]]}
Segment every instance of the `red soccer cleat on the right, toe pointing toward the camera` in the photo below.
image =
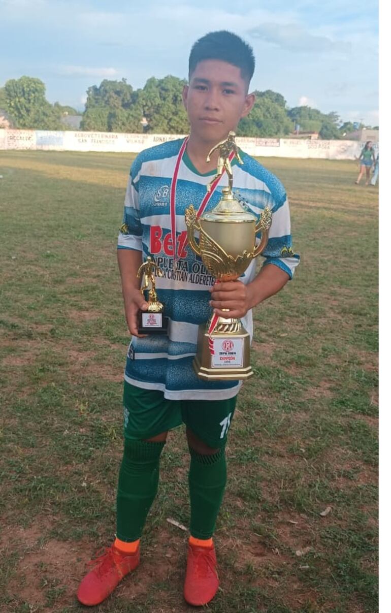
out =
{"type": "Polygon", "coordinates": [[[197,547],[189,543],[188,566],[183,588],[186,602],[200,607],[212,600],[219,587],[216,566],[213,544],[211,547],[197,547]]]}

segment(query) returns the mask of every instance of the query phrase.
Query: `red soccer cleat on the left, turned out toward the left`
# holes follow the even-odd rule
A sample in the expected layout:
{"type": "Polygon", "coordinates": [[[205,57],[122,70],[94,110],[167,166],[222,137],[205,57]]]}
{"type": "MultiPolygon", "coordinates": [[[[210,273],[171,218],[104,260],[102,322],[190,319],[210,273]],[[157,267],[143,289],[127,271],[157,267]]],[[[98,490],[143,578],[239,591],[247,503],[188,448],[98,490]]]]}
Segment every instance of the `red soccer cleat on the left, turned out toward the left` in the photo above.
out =
{"type": "Polygon", "coordinates": [[[89,562],[94,568],[79,585],[78,600],[87,606],[100,604],[139,563],[140,547],[137,547],[134,554],[123,554],[114,545],[107,547],[104,554],[89,562]]]}

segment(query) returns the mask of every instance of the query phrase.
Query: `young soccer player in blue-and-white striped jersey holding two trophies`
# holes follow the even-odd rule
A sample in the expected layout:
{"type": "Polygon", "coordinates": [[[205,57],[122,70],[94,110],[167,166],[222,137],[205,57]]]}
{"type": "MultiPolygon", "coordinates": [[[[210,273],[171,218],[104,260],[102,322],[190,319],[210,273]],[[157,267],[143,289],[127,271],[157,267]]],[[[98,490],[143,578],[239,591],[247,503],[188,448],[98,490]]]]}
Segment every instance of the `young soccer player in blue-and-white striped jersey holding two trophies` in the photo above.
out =
{"type": "Polygon", "coordinates": [[[125,441],[116,538],[80,584],[78,599],[83,604],[101,603],[139,565],[140,536],[158,490],[159,457],[169,430],[183,422],[190,452],[191,503],[184,598],[189,604],[203,605],[218,590],[213,531],[226,486],[224,449],[240,383],[197,378],[192,369],[197,331],[213,308],[222,316],[227,316],[222,309],[228,309],[229,316],[242,318],[252,333],[252,307],[287,283],[298,256],[292,251],[283,185],[243,152],[243,165],[232,164],[233,186],[258,218],[266,205],[273,213],[265,265],[258,275],[252,261],[240,280],[214,284],[186,243],[184,210],[190,204],[210,209],[218,203],[227,175],[208,193],[218,151],[210,164],[205,160],[211,148],[235,131],[240,118],[251,111],[254,95],[248,88],[253,72],[252,50],[235,34],[221,31],[203,36],[192,47],[189,85],[183,91],[189,139],[145,150],[132,164],[118,238],[132,341],[124,381],[125,441]],[[147,305],[136,275],[148,256],[154,257],[163,273],[156,278],[156,289],[169,317],[167,335],[142,337],[137,332],[137,313],[147,305]]]}

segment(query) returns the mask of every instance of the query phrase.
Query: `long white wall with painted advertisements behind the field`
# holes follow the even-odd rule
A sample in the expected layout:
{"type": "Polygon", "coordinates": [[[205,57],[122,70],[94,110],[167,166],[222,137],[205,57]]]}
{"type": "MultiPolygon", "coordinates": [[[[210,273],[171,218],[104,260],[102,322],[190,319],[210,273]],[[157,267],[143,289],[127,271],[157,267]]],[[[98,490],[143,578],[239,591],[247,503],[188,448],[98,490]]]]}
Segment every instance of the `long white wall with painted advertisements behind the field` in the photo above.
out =
{"type": "MultiPolygon", "coordinates": [[[[0,129],[0,150],[113,151],[139,153],[183,134],[117,134],[116,132],[50,132],[0,129]]],[[[356,159],[363,143],[357,140],[257,139],[237,137],[243,151],[260,158],[356,159]]]]}

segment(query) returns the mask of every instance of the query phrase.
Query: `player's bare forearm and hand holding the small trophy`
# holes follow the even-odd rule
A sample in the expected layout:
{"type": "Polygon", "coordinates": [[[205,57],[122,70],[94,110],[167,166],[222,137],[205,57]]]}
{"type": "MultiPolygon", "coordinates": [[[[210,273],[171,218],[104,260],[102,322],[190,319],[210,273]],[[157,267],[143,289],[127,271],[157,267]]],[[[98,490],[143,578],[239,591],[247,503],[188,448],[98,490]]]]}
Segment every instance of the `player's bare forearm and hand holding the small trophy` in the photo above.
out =
{"type": "Polygon", "coordinates": [[[118,249],[117,258],[120,267],[127,327],[135,337],[142,338],[145,335],[140,335],[137,332],[137,313],[139,310],[146,311],[148,308],[148,302],[140,292],[140,279],[137,278],[137,271],[143,263],[142,251],[118,249]]]}

